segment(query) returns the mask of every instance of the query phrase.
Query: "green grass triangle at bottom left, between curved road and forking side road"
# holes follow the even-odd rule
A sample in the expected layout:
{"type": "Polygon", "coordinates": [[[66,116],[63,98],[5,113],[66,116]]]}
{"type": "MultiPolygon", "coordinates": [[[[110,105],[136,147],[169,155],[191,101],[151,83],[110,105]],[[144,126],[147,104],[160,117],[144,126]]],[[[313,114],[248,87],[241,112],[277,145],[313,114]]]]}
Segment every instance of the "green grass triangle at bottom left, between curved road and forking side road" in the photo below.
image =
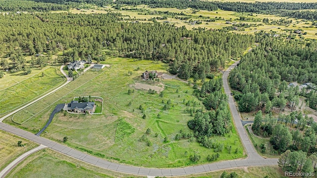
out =
{"type": "MultiPolygon", "coordinates": [[[[43,149],[18,164],[6,178],[119,178],[131,175],[111,172],[77,159],[43,149]]],[[[136,177],[137,178],[137,177],[136,177]]]]}

